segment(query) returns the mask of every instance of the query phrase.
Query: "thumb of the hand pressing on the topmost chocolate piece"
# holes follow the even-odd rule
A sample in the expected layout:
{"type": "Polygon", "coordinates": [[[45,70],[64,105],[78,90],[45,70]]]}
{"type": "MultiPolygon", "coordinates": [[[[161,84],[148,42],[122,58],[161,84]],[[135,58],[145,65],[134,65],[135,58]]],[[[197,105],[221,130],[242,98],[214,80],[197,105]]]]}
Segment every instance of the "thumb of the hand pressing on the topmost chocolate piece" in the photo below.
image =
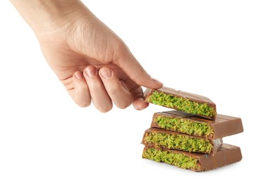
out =
{"type": "Polygon", "coordinates": [[[130,77],[131,80],[139,84],[140,86],[159,89],[163,87],[163,84],[158,80],[152,78],[142,65],[136,60],[130,50],[125,46],[122,50],[119,50],[117,56],[114,58],[114,63],[118,65],[119,68],[126,72],[126,75],[130,77]]]}

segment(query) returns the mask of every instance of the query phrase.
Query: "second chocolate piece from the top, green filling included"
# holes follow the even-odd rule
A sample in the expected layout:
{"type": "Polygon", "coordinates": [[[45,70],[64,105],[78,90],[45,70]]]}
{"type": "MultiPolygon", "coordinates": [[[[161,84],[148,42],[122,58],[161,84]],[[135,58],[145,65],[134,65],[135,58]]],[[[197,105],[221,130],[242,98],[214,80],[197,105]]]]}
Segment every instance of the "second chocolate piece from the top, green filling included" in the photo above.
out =
{"type": "Polygon", "coordinates": [[[215,120],[212,121],[181,111],[154,113],[151,127],[212,139],[243,132],[240,118],[217,114],[215,120]]]}

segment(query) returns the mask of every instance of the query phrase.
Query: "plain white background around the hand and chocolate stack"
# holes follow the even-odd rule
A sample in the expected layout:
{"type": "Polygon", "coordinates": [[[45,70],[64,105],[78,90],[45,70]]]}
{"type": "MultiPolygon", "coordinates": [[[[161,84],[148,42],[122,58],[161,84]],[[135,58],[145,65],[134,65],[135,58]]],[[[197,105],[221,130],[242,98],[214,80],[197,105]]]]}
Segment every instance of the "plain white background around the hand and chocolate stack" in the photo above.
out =
{"type": "Polygon", "coordinates": [[[244,132],[224,142],[240,146],[243,160],[198,173],[142,159],[143,132],[168,109],[79,108],[30,27],[0,1],[0,182],[254,179],[255,1],[84,2],[166,87],[207,96],[218,113],[242,118],[244,132]]]}

